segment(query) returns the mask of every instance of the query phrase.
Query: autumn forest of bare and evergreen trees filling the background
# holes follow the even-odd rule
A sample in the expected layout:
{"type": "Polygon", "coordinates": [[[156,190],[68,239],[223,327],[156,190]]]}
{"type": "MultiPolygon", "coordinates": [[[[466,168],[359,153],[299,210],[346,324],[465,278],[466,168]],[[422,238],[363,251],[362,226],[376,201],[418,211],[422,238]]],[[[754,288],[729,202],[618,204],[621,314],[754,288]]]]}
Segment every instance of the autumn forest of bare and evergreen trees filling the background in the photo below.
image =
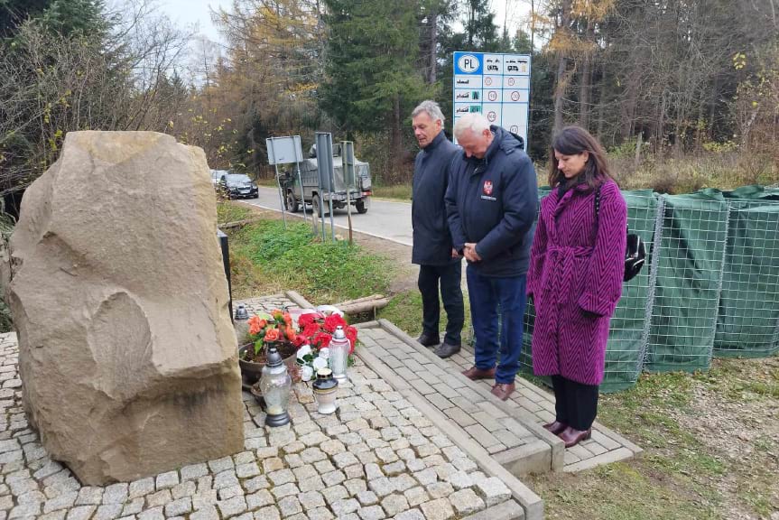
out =
{"type": "Polygon", "coordinates": [[[522,0],[515,32],[487,0],[236,0],[223,41],[146,0],[0,0],[0,191],[13,211],[73,130],[153,130],[216,169],[274,175],[265,138],[354,140],[379,186],[407,184],[410,112],[449,117],[453,51],[533,55],[530,153],[588,128],[623,188],[779,180],[777,0],[522,0]],[[10,204],[9,204],[10,202],[10,204]]]}

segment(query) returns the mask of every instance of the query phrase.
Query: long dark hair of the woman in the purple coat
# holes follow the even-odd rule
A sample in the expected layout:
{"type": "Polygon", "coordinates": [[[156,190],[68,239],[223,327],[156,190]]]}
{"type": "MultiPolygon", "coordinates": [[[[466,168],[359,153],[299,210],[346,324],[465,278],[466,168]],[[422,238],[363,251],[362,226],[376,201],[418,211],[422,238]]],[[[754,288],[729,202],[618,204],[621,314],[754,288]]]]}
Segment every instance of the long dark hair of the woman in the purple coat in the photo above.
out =
{"type": "Polygon", "coordinates": [[[589,132],[580,126],[566,126],[552,141],[552,151],[549,154],[549,185],[553,188],[558,182],[565,181],[565,176],[557,168],[557,160],[554,158],[555,150],[563,155],[577,155],[588,152],[589,158],[584,164],[584,172],[577,177],[577,182],[586,182],[595,189],[608,179],[613,180],[608,172],[606,152],[598,140],[589,135],[589,132]]]}

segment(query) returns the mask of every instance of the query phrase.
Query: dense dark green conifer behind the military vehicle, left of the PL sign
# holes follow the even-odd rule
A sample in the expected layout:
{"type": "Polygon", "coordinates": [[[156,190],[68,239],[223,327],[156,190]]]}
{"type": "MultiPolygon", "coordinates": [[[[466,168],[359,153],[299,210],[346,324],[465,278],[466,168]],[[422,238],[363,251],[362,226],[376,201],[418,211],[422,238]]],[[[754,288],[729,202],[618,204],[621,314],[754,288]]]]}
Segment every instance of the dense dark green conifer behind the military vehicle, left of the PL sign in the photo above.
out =
{"type": "MultiPolygon", "coordinates": [[[[388,130],[390,152],[405,157],[403,122],[430,96],[417,70],[419,3],[413,0],[325,0],[325,80],[320,106],[348,135],[388,130]]],[[[400,177],[390,165],[389,181],[400,177]]]]}

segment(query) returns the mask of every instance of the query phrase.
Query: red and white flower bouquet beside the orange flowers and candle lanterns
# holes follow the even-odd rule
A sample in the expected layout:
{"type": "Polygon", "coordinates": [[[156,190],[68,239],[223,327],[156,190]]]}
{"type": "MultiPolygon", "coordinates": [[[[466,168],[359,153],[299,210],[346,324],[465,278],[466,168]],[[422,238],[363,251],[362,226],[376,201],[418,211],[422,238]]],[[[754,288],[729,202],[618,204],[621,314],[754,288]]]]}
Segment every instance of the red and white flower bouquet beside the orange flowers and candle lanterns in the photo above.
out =
{"type": "Polygon", "coordinates": [[[320,368],[328,366],[329,344],[338,326],[343,327],[349,340],[349,364],[353,362],[357,329],[351,327],[343,316],[333,313],[325,317],[319,312],[301,314],[298,318],[298,334],[304,342],[298,348],[298,364],[301,366],[301,379],[310,381],[320,368]]]}

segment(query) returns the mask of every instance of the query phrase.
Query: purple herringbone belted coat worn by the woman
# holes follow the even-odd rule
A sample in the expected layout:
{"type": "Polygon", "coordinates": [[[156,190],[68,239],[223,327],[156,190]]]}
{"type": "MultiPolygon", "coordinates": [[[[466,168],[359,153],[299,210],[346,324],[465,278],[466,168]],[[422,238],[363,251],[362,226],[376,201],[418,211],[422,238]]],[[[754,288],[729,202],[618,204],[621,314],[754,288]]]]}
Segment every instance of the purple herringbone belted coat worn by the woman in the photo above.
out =
{"type": "Polygon", "coordinates": [[[533,372],[599,385],[608,322],[622,294],[627,208],[614,181],[595,190],[579,184],[541,201],[527,293],[533,295],[533,372]]]}

